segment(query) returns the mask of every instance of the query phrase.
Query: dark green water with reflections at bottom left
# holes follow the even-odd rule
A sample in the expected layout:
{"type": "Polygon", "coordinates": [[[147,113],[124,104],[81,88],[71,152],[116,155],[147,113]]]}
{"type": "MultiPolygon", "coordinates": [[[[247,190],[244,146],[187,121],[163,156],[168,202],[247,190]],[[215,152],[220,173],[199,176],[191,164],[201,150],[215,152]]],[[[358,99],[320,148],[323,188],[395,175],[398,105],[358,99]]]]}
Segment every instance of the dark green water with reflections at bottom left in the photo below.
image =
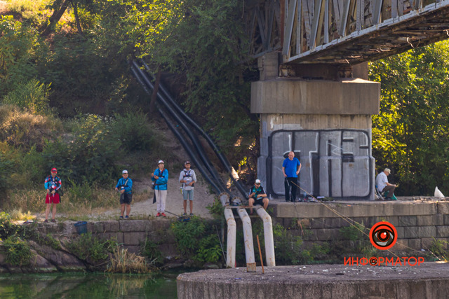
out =
{"type": "Polygon", "coordinates": [[[1,274],[0,298],[177,298],[176,274],[1,274]]]}

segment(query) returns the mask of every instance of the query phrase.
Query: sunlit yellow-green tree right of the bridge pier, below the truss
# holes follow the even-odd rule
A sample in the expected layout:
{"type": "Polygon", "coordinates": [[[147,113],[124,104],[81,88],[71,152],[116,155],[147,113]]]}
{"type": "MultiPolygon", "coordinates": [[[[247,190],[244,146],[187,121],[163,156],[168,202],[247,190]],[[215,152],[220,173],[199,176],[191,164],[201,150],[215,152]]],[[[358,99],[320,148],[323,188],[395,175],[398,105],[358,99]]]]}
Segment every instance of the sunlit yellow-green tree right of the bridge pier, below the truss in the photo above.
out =
{"type": "Polygon", "coordinates": [[[449,42],[416,48],[370,64],[382,83],[373,116],[377,171],[393,170],[399,195],[449,192],[449,42]]]}

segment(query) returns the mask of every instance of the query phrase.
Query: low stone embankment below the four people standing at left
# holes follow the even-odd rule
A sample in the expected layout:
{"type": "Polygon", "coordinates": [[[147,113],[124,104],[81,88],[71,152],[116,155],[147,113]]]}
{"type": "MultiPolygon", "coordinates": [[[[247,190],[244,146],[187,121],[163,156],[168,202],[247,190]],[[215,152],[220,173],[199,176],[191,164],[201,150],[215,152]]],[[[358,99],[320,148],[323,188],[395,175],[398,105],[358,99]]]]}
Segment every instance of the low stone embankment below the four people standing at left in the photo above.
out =
{"type": "MultiPolygon", "coordinates": [[[[79,235],[74,223],[74,221],[38,223],[36,230],[38,230],[39,235],[49,235],[52,239],[57,240],[58,249],[52,248],[48,244],[39,244],[29,240],[27,242],[32,253],[29,265],[20,267],[8,264],[6,263],[6,255],[0,252],[0,273],[105,270],[107,263],[95,264],[90,260],[81,260],[65,248],[69,239],[79,235]]],[[[159,243],[159,250],[168,262],[167,267],[182,267],[183,264],[180,262],[173,262],[170,265],[170,260],[177,260],[175,238],[169,230],[170,223],[171,221],[168,219],[158,219],[157,221],[96,221],[87,223],[87,231],[103,239],[115,237],[117,242],[131,253],[137,253],[140,250],[140,244],[145,242],[146,239],[152,240],[152,242],[159,243]]]]}

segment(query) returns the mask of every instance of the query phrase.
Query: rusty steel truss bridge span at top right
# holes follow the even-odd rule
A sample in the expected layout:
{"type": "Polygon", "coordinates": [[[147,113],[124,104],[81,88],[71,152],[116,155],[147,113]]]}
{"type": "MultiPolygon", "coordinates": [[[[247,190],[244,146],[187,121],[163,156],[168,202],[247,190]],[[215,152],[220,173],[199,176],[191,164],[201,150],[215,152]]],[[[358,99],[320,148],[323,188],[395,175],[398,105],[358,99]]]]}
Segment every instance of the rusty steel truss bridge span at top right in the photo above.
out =
{"type": "Polygon", "coordinates": [[[358,64],[449,37],[449,0],[247,0],[245,13],[250,54],[283,63],[358,64]]]}

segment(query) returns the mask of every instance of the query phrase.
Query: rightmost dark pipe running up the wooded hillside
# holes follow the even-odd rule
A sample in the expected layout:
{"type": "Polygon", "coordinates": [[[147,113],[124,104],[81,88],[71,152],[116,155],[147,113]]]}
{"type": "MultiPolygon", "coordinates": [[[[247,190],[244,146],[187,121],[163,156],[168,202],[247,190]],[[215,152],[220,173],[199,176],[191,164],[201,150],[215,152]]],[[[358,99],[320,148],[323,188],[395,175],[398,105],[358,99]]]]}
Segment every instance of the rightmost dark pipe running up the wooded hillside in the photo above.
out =
{"type": "MultiPolygon", "coordinates": [[[[154,80],[154,76],[151,74],[149,67],[148,67],[147,63],[145,62],[145,60],[141,60],[141,61],[142,61],[142,64],[145,66],[145,69],[147,69],[147,72],[150,74],[150,76],[152,76],[152,78],[154,80]]],[[[159,84],[159,89],[161,90],[163,95],[166,97],[166,99],[170,102],[170,105],[173,106],[177,110],[177,112],[180,114],[180,116],[185,118],[185,120],[187,120],[187,122],[190,125],[192,125],[196,130],[198,130],[200,132],[200,134],[204,137],[204,139],[206,139],[206,141],[208,141],[208,144],[210,145],[210,147],[212,147],[215,155],[217,155],[217,158],[222,163],[222,166],[225,167],[226,171],[228,172],[228,174],[231,177],[232,181],[234,182],[235,186],[239,189],[241,195],[243,195],[243,197],[247,198],[248,195],[246,193],[245,188],[243,188],[242,183],[239,181],[238,178],[236,179],[233,175],[233,171],[232,171],[233,167],[232,167],[231,163],[229,163],[229,160],[227,160],[226,156],[221,153],[220,149],[215,145],[215,143],[210,138],[210,136],[206,132],[204,132],[204,130],[182,110],[182,108],[177,104],[177,102],[175,102],[173,97],[168,93],[168,91],[166,90],[166,88],[163,87],[163,85],[159,84]]]]}

